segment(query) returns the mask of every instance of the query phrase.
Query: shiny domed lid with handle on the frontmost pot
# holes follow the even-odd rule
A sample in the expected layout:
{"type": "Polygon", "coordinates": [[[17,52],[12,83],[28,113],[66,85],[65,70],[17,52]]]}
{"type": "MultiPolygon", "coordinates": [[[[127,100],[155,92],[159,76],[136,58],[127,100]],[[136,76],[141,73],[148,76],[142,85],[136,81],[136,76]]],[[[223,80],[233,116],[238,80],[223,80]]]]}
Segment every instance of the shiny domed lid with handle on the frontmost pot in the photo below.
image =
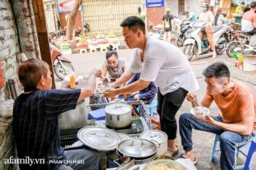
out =
{"type": "Polygon", "coordinates": [[[140,138],[125,139],[117,145],[116,149],[121,154],[132,158],[149,157],[157,152],[156,144],[140,138]]]}

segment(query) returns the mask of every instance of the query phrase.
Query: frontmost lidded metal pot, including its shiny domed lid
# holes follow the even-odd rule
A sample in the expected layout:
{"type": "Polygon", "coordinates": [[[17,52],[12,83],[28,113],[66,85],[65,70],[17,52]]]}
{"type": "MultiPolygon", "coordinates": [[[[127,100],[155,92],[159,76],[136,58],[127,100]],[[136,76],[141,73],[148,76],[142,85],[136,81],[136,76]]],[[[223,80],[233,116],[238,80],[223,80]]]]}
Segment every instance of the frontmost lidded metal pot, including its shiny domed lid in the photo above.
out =
{"type": "Polygon", "coordinates": [[[134,159],[138,165],[153,161],[157,156],[157,146],[147,139],[125,139],[117,145],[116,152],[121,160],[134,159]]]}

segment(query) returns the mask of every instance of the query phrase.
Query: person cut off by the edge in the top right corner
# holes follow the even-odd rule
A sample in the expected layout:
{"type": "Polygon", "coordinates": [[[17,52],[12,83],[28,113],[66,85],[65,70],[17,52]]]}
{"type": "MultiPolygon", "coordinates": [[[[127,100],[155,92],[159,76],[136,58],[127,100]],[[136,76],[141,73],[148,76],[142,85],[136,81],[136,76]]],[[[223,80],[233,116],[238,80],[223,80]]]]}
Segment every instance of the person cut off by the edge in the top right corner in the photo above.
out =
{"type": "Polygon", "coordinates": [[[251,9],[244,13],[241,21],[241,31],[255,34],[256,33],[256,1],[250,4],[251,9]]]}

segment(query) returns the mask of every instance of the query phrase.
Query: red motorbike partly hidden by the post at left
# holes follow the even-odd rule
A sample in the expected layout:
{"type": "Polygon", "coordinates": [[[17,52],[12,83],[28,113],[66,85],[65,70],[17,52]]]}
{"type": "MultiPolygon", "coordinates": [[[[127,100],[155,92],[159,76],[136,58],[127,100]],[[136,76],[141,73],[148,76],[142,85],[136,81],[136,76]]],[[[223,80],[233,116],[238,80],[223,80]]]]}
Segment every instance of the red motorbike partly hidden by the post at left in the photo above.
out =
{"type": "Polygon", "coordinates": [[[50,44],[50,56],[53,63],[54,73],[59,80],[64,80],[65,76],[75,72],[71,61],[69,61],[68,58],[63,57],[61,50],[59,50],[53,44],[50,44]]]}

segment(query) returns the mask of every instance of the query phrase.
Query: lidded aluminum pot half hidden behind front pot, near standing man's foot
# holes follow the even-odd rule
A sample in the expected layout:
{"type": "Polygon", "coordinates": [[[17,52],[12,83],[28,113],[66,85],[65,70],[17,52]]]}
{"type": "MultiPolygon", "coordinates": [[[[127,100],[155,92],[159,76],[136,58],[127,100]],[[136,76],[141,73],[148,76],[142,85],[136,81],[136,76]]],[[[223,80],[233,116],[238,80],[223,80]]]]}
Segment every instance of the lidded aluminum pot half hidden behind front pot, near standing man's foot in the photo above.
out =
{"type": "Polygon", "coordinates": [[[167,134],[159,130],[143,131],[140,138],[148,139],[157,145],[157,155],[164,155],[167,152],[167,134]]]}

